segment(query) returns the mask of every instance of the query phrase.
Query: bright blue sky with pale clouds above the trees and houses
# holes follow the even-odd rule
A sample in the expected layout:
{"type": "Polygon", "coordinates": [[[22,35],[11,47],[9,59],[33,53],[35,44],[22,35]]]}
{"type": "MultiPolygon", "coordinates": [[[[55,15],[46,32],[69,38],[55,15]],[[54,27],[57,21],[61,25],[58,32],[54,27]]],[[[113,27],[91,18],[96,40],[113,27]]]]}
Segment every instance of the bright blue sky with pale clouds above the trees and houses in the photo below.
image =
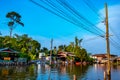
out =
{"type": "Polygon", "coordinates": [[[22,16],[24,27],[18,25],[13,34],[28,34],[48,49],[51,39],[53,46],[68,45],[77,36],[83,39],[81,46],[89,53],[106,53],[106,40],[100,37],[105,35],[105,3],[108,5],[110,52],[120,55],[120,0],[0,0],[1,36],[9,35],[8,19],[5,16],[15,11],[22,16]],[[46,1],[50,1],[48,5],[44,4],[46,1]],[[66,1],[79,14],[76,15],[56,1],[66,1]],[[49,6],[50,3],[53,8],[49,6]]]}

